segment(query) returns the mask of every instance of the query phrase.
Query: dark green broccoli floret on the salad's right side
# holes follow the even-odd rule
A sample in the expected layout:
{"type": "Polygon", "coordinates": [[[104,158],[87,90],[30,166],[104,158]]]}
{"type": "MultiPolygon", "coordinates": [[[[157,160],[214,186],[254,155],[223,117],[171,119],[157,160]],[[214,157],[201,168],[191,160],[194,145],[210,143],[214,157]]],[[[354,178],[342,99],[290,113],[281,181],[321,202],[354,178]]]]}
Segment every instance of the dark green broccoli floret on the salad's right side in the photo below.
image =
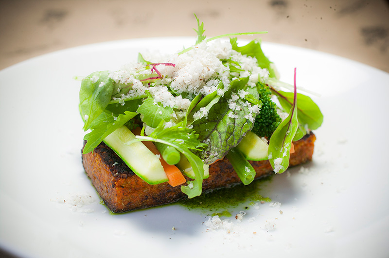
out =
{"type": "Polygon", "coordinates": [[[265,84],[258,84],[257,86],[259,99],[262,101],[262,107],[259,114],[255,117],[252,132],[259,137],[267,137],[273,134],[282,119],[277,113],[277,105],[271,101],[271,91],[265,84]]]}

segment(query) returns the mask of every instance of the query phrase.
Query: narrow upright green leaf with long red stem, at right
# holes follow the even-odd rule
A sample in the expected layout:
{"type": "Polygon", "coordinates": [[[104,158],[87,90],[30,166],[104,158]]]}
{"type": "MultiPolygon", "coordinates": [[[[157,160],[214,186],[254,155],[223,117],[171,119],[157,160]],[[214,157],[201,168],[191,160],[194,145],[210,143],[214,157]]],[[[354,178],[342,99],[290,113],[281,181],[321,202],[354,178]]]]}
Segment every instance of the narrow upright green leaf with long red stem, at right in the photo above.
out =
{"type": "Polygon", "coordinates": [[[299,127],[297,119],[296,68],[293,105],[288,117],[273,132],[269,142],[269,161],[276,173],[283,173],[289,166],[290,148],[299,127]]]}

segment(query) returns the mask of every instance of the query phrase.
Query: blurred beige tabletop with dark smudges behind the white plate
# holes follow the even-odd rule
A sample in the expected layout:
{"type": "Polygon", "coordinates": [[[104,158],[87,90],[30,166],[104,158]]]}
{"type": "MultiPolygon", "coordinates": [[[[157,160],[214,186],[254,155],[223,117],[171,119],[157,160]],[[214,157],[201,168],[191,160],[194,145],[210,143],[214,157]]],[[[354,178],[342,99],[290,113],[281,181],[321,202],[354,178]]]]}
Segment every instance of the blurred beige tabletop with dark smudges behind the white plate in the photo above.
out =
{"type": "Polygon", "coordinates": [[[263,41],[389,72],[388,0],[0,0],[0,69],[98,42],[195,37],[194,13],[208,37],[268,31],[263,41]]]}

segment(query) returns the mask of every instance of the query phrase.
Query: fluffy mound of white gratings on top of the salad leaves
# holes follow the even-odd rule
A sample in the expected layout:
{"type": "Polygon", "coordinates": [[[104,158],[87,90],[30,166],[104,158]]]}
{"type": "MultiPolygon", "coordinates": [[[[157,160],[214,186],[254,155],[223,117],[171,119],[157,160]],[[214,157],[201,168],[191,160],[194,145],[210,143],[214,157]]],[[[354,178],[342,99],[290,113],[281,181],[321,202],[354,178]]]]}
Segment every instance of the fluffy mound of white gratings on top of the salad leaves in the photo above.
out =
{"type": "MultiPolygon", "coordinates": [[[[146,83],[145,80],[142,80],[143,82],[138,80],[137,78],[142,78],[142,75],[151,74],[149,69],[151,65],[145,68],[144,64],[141,63],[130,63],[125,65],[122,70],[110,71],[108,77],[115,83],[125,85],[125,92],[128,91],[127,94],[120,95],[118,88],[118,94],[113,99],[124,105],[126,99],[145,96],[148,91],[154,98],[155,104],[175,109],[172,114],[174,123],[185,117],[191,103],[191,97],[198,94],[206,96],[215,91],[218,96],[224,96],[229,90],[232,73],[230,73],[230,67],[224,65],[221,60],[231,59],[239,62],[239,68],[242,71],[235,73],[234,76],[248,77],[249,86],[255,86],[258,81],[265,81],[268,78],[268,71],[258,67],[255,57],[242,55],[233,50],[229,41],[215,40],[211,43],[203,41],[180,55],[149,52],[143,53],[143,57],[145,60],[154,62],[152,71],[159,77],[159,80],[151,84],[146,83]],[[134,77],[134,74],[137,74],[137,78],[134,77]],[[189,98],[183,98],[180,95],[182,93],[187,93],[189,98]]],[[[92,79],[98,80],[97,77],[92,79]]],[[[237,78],[232,80],[235,79],[237,78]]],[[[104,85],[104,82],[101,82],[99,86],[104,85]]],[[[238,114],[234,113],[234,111],[242,110],[240,104],[237,104],[237,100],[244,99],[247,95],[248,92],[245,90],[231,94],[228,105],[233,112],[228,113],[229,117],[239,118],[238,114]]],[[[260,112],[260,107],[249,102],[244,102],[243,105],[248,107],[248,113],[244,117],[250,122],[254,122],[255,116],[260,112]]],[[[208,112],[209,109],[202,108],[195,113],[194,119],[207,117],[208,112]]]]}

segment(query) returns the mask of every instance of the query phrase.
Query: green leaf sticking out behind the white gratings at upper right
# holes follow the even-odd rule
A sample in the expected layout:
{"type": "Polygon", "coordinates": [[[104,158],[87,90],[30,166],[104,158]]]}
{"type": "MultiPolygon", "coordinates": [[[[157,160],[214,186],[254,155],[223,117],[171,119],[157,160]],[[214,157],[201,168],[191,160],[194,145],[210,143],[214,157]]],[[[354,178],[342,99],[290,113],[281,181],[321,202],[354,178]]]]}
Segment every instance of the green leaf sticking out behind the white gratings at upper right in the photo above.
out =
{"type": "Polygon", "coordinates": [[[255,57],[257,59],[258,66],[269,71],[269,77],[276,77],[276,73],[270,65],[271,62],[262,51],[261,43],[259,41],[252,40],[246,46],[238,47],[237,40],[237,38],[230,38],[233,50],[238,51],[243,55],[255,57]]]}

